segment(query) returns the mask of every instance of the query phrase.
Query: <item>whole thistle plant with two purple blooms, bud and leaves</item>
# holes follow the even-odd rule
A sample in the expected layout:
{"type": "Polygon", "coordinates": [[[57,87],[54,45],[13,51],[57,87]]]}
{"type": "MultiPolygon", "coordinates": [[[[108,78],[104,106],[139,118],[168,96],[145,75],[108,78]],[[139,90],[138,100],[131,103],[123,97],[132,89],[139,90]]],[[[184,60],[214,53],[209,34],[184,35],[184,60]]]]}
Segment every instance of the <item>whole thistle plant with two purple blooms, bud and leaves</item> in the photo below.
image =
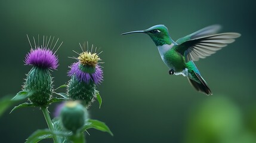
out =
{"type": "MultiPolygon", "coordinates": [[[[5,100],[8,103],[27,100],[17,105],[11,110],[17,110],[21,107],[39,107],[44,114],[48,129],[36,130],[26,142],[38,142],[45,138],[53,138],[54,142],[85,142],[84,132],[87,129],[94,128],[113,135],[105,123],[88,118],[87,107],[98,100],[101,105],[101,97],[96,90],[97,85],[103,81],[103,70],[99,65],[101,60],[99,54],[90,51],[84,51],[79,54],[76,63],[70,66],[68,76],[70,77],[68,85],[61,85],[54,89],[53,77],[51,71],[58,67],[58,57],[56,52],[63,42],[58,44],[58,39],[54,37],[43,37],[40,45],[33,37],[34,46],[32,46],[29,36],[30,51],[26,54],[24,63],[31,65],[32,69],[26,74],[26,79],[22,91],[12,100],[5,100]],[[51,48],[53,45],[53,48],[51,48]],[[54,51],[55,47],[57,47],[54,51]],[[57,89],[66,88],[67,93],[58,93],[57,89]],[[55,97],[54,95],[57,95],[55,97]],[[48,107],[54,102],[63,101],[63,104],[57,109],[56,117],[52,120],[48,107]]],[[[88,45],[88,44],[87,44],[88,45]]],[[[88,46],[87,46],[88,47],[88,46]]],[[[87,132],[88,133],[88,132],[87,132]]]]}

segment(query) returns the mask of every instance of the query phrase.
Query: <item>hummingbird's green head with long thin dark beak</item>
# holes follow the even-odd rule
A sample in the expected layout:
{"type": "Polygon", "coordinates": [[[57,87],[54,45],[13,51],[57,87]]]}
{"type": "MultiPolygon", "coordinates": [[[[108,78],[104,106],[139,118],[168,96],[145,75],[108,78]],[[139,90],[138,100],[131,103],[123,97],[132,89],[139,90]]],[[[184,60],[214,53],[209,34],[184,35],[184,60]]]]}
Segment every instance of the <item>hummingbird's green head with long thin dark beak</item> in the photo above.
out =
{"type": "Polygon", "coordinates": [[[146,33],[150,36],[153,42],[155,42],[156,46],[161,46],[164,44],[170,45],[172,43],[167,27],[162,24],[152,26],[149,29],[145,30],[122,33],[122,35],[127,35],[130,33],[146,33]]]}

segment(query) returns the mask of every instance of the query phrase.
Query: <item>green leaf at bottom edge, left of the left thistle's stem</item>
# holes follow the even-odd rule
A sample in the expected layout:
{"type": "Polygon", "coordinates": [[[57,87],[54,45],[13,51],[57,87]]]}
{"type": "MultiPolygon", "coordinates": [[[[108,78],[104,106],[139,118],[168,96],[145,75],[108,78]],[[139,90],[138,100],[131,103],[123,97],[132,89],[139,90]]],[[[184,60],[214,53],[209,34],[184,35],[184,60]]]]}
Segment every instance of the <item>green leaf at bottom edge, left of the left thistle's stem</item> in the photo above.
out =
{"type": "Polygon", "coordinates": [[[29,138],[27,138],[27,141],[25,143],[39,142],[42,139],[47,139],[52,137],[53,137],[53,133],[49,129],[36,130],[35,132],[32,133],[32,135],[29,136],[29,138]]]}

